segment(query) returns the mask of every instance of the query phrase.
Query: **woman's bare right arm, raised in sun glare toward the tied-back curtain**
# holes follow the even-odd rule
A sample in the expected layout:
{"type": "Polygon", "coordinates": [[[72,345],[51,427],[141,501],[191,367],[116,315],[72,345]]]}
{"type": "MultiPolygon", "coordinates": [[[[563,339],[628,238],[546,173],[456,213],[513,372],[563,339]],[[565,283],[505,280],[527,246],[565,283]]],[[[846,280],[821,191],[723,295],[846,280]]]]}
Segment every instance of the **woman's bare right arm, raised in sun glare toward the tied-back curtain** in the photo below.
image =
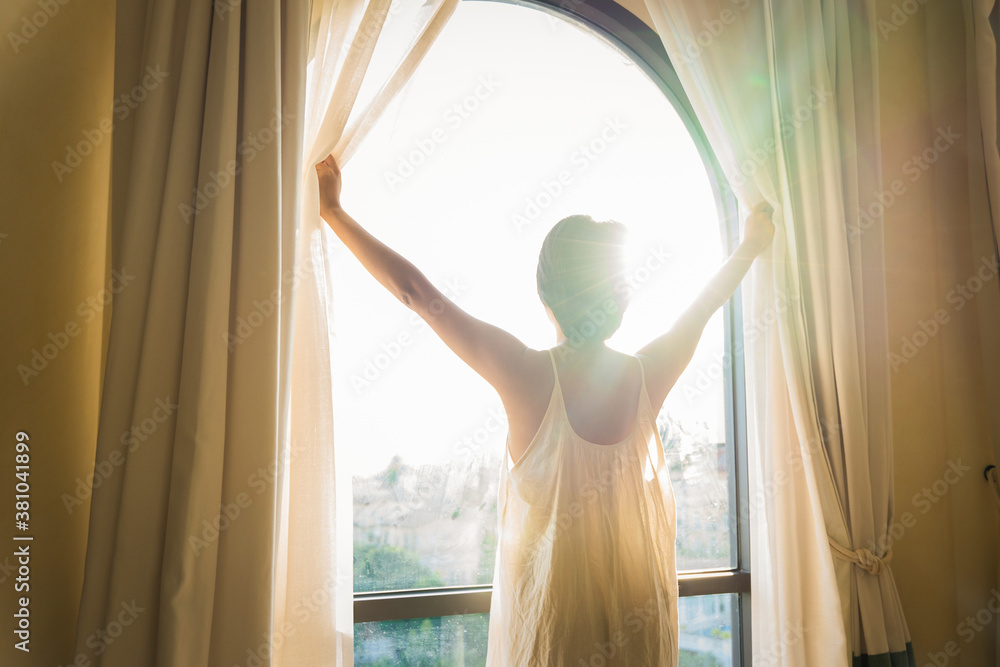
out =
{"type": "Polygon", "coordinates": [[[747,217],[743,242],[736,252],[730,255],[670,331],[639,350],[638,356],[644,359],[647,393],[654,410],[663,404],[670,389],[691,362],[708,320],[729,300],[753,261],[774,238],[772,212],[767,203],[754,207],[747,217]]]}

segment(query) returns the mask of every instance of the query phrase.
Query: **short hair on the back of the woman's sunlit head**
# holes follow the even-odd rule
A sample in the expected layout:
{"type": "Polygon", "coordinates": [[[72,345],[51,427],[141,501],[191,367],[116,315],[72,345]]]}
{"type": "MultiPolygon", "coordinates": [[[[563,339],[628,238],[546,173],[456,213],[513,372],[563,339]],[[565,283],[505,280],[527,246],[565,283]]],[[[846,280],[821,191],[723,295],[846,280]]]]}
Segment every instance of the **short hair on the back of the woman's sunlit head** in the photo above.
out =
{"type": "Polygon", "coordinates": [[[619,222],[571,215],[542,242],[538,294],[571,341],[607,340],[621,326],[629,300],[622,279],[626,238],[619,222]]]}

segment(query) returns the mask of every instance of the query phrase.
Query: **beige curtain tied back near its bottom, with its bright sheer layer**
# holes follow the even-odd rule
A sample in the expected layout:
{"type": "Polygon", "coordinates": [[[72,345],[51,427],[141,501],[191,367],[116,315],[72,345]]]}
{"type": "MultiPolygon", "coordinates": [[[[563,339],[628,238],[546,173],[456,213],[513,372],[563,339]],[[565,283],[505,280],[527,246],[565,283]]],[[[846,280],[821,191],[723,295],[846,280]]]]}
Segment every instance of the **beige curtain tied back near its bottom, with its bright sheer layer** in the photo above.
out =
{"type": "Polygon", "coordinates": [[[888,567],[873,3],[646,6],[730,186],[776,205],[744,287],[766,331],[746,351],[754,664],[914,664],[888,567]]]}

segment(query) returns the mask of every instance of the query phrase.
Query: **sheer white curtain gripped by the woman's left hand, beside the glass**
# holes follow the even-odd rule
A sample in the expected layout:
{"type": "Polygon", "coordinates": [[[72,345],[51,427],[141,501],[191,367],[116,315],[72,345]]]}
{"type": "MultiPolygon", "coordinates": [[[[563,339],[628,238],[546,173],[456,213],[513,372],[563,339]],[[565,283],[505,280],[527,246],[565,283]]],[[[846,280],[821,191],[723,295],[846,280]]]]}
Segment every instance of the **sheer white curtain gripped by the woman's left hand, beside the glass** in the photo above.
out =
{"type": "MultiPolygon", "coordinates": [[[[303,179],[296,232],[291,461],[283,487],[274,627],[296,627],[303,603],[333,600],[276,653],[275,665],[353,664],[353,515],[349,450],[333,442],[329,245],[314,165],[343,167],[405,86],[458,0],[314,0],[309,30],[303,179]]],[[[359,323],[359,326],[363,326],[359,323]]]]}

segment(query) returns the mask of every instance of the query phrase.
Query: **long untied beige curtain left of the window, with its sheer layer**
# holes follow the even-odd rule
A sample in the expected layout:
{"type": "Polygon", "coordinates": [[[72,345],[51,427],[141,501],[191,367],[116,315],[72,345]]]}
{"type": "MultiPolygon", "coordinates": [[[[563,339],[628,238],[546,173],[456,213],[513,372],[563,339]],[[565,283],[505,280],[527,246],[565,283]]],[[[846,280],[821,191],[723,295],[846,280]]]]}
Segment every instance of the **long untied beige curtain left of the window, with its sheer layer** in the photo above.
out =
{"type": "Polygon", "coordinates": [[[114,149],[113,265],[132,277],[111,320],[78,660],[353,661],[311,169],[335,146],[349,157],[455,6],[398,4],[118,3],[116,90],[146,90],[114,149]],[[369,71],[383,42],[402,64],[369,71]]]}

